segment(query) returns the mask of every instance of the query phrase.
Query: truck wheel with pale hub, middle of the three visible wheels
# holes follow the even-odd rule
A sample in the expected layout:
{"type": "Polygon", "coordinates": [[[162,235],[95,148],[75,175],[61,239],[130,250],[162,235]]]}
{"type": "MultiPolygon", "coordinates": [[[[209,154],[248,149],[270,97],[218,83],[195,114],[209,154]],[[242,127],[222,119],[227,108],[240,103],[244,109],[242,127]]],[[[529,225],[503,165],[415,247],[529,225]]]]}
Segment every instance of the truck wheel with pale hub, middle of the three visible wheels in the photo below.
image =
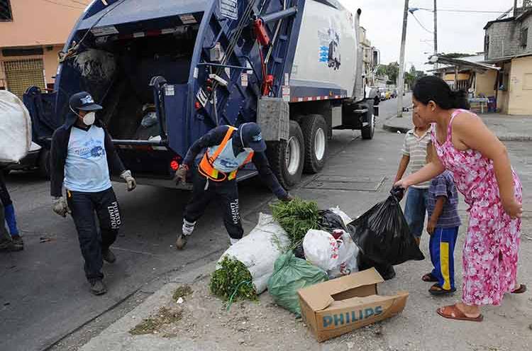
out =
{"type": "Polygon", "coordinates": [[[305,138],[304,172],[318,173],[325,165],[328,138],[327,123],[321,115],[309,115],[301,120],[301,130],[305,138]]]}

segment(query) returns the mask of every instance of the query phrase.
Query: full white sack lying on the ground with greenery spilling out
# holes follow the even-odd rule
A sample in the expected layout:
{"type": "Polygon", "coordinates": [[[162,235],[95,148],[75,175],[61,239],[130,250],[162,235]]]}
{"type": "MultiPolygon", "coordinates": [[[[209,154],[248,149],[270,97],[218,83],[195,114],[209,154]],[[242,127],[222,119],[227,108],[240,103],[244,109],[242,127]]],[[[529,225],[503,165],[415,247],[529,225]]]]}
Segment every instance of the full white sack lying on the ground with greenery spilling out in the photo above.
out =
{"type": "Polygon", "coordinates": [[[260,213],[259,223],[238,243],[231,245],[223,252],[216,269],[221,268],[219,262],[228,256],[248,267],[257,294],[266,290],[268,279],[273,274],[275,260],[285,252],[290,245],[287,232],[273,219],[272,216],[260,213]]]}

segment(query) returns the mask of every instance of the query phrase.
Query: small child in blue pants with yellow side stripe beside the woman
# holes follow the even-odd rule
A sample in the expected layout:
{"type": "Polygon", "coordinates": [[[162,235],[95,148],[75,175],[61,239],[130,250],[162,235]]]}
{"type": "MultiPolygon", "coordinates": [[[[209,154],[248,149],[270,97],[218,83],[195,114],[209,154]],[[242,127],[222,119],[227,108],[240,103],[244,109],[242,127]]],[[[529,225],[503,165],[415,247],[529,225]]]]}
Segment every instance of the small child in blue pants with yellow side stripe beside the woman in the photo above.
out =
{"type": "MultiPolygon", "coordinates": [[[[432,157],[432,143],[427,147],[427,163],[432,157]]],[[[453,174],[444,171],[431,180],[427,197],[427,233],[431,235],[428,247],[434,266],[432,272],[423,276],[424,282],[436,282],[429,293],[433,295],[452,294],[455,288],[455,244],[460,228],[458,216],[458,191],[453,174]]]]}

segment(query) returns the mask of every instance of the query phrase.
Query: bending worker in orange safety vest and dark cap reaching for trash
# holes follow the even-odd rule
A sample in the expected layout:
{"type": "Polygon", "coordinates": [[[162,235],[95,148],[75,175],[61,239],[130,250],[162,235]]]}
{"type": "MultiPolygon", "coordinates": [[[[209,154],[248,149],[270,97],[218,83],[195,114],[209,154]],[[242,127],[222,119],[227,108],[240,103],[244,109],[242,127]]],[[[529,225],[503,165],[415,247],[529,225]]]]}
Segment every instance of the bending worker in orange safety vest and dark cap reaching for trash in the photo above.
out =
{"type": "Polygon", "coordinates": [[[212,199],[218,198],[223,211],[223,224],[231,245],[243,236],[238,204],[236,174],[238,169],[253,162],[262,181],[282,201],[292,200],[273,174],[265,155],[266,143],[256,123],[244,123],[239,128],[218,126],[196,140],[175,174],[177,182],[185,182],[187,173],[202,150],[197,171],[192,174],[194,190],[184,211],[182,233],[177,237],[181,250],[194,231],[196,221],[204,214],[212,199]]]}

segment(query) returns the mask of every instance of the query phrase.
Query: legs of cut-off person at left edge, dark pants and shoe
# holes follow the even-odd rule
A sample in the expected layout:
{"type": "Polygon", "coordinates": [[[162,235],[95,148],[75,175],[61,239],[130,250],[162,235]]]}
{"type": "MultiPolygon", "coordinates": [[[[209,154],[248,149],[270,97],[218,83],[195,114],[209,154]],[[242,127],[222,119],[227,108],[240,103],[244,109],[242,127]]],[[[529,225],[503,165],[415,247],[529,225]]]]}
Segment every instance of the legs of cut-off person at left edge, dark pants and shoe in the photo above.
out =
{"type": "Polygon", "coordinates": [[[4,228],[4,221],[5,221],[9,228],[9,234],[10,234],[10,235],[7,235],[5,238],[3,238],[4,240],[2,240],[2,243],[0,244],[0,250],[7,250],[7,251],[24,250],[24,242],[22,240],[21,234],[18,231],[18,227],[16,225],[15,207],[13,206],[13,201],[11,201],[11,196],[9,196],[9,191],[7,190],[6,180],[4,179],[4,174],[2,173],[2,169],[0,169],[0,201],[2,204],[2,208],[1,208],[2,217],[4,218],[0,221],[1,223],[0,226],[4,228]]]}

